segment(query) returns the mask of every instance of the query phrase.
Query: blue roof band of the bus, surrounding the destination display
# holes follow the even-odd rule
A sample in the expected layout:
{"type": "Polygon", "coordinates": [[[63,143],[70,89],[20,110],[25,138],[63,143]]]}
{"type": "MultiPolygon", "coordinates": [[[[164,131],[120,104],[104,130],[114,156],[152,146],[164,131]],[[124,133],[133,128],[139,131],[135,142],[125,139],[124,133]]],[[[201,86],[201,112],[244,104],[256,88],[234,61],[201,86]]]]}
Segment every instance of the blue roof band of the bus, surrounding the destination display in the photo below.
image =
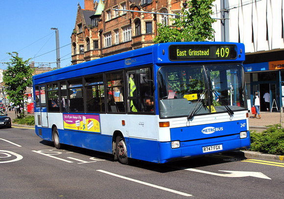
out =
{"type": "MultiPolygon", "coordinates": [[[[199,48],[198,48],[199,49],[199,48]]],[[[177,42],[177,43],[162,43],[154,44],[151,46],[143,47],[136,50],[131,50],[116,55],[111,55],[108,57],[103,57],[100,59],[80,63],[77,65],[67,66],[64,68],[52,70],[42,74],[34,75],[34,84],[44,84],[45,82],[60,81],[69,78],[75,78],[83,75],[90,75],[94,73],[102,73],[111,70],[123,69],[126,67],[143,66],[156,64],[158,66],[170,65],[170,64],[200,64],[200,63],[216,63],[216,62],[234,62],[242,63],[245,59],[245,49],[244,44],[240,43],[225,43],[225,42],[177,42]],[[208,60],[170,60],[169,46],[227,46],[235,45],[237,48],[236,59],[233,60],[220,60],[208,59],[208,60]],[[95,66],[95,67],[94,67],[95,66]],[[45,80],[44,80],[45,79],[45,80]],[[48,81],[46,81],[48,80],[48,81]]]]}

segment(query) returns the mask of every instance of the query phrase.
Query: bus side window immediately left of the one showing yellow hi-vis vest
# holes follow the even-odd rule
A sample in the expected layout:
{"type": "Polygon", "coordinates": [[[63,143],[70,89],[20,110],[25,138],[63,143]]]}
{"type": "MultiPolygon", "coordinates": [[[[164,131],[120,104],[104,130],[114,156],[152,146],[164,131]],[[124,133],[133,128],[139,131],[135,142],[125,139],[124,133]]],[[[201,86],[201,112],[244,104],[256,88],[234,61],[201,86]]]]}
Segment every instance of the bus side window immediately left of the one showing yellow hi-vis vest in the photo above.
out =
{"type": "Polygon", "coordinates": [[[125,112],[123,71],[106,74],[108,112],[125,112]]]}

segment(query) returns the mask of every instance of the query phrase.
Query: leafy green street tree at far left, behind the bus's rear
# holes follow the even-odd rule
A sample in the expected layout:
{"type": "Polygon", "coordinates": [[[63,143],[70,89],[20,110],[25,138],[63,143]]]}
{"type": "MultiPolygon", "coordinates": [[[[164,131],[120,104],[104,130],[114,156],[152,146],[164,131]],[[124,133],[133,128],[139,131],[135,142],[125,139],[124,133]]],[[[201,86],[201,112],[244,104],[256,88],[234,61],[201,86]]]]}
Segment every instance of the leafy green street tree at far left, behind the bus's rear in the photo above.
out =
{"type": "MultiPolygon", "coordinates": [[[[6,71],[3,72],[3,82],[5,82],[5,91],[8,94],[10,101],[15,106],[24,107],[24,100],[27,95],[24,95],[27,87],[32,87],[33,70],[28,66],[28,60],[23,61],[17,52],[7,53],[12,58],[6,71]]],[[[20,117],[24,117],[24,111],[21,111],[20,117]]]]}

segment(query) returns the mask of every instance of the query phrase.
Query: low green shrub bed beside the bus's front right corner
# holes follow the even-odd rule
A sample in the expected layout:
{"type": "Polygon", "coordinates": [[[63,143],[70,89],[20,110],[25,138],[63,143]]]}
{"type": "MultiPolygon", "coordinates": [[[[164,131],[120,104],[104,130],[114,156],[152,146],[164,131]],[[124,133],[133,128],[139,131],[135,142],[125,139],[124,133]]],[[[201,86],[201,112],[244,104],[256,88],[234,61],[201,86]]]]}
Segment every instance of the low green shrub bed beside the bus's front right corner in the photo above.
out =
{"type": "Polygon", "coordinates": [[[251,133],[251,151],[284,155],[284,129],[280,124],[270,125],[261,133],[251,133]]]}

